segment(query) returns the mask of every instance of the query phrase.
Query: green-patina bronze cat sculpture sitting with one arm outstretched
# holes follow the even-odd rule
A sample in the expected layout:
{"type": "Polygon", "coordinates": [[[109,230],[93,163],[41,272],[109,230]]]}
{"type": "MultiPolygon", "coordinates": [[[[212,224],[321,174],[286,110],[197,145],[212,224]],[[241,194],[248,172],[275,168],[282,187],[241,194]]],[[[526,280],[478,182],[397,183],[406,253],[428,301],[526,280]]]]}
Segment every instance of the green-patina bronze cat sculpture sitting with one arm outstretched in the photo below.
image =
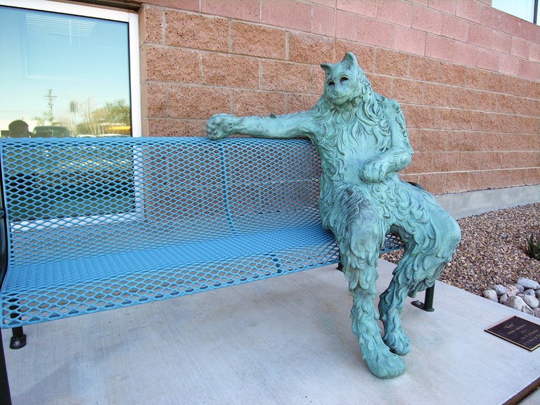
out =
{"type": "Polygon", "coordinates": [[[413,150],[399,104],[375,93],[347,53],[326,72],[323,95],[311,110],[270,117],[210,117],[210,139],[243,134],[271,139],[307,138],[321,157],[319,211],[334,233],[352,293],[352,329],[364,361],[379,378],[405,370],[409,352],[401,328],[407,295],[432,286],[461,239],[458,224],[433,196],[399,179],[413,150]],[[373,300],[379,249],[388,231],[404,240],[404,255],[380,296],[381,337],[373,300]]]}

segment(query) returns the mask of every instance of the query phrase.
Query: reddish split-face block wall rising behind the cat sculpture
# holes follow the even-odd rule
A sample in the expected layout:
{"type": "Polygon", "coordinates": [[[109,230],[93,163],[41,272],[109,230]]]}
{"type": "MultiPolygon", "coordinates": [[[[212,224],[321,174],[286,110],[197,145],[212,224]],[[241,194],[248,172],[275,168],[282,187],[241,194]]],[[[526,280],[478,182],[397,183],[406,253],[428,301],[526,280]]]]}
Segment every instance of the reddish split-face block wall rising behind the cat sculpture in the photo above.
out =
{"type": "Polygon", "coordinates": [[[203,136],[214,113],[314,105],[323,62],[353,51],[401,104],[432,193],[540,184],[540,27],[490,0],[148,0],[143,131],[203,136]]]}

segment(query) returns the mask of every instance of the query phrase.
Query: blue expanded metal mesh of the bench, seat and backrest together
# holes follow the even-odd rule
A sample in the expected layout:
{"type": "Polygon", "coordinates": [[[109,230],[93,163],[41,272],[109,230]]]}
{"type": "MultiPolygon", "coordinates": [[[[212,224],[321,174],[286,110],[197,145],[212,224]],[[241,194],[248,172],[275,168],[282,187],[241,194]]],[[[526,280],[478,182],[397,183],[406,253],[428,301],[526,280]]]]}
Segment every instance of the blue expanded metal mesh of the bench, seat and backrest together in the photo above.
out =
{"type": "Polygon", "coordinates": [[[1,164],[2,328],[338,262],[307,141],[3,139],[1,164]]]}

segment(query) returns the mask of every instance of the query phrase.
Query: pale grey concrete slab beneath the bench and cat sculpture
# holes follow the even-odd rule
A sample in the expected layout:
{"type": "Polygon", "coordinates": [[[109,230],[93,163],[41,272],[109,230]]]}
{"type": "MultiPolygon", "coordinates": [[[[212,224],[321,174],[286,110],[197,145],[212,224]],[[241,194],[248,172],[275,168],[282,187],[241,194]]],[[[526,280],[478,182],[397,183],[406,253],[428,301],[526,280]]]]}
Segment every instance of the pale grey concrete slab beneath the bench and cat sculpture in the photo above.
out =
{"type": "Polygon", "coordinates": [[[484,332],[516,312],[443,283],[435,312],[406,304],[406,373],[378,380],[350,305],[327,266],[29,326],[20,350],[4,331],[13,404],[504,404],[540,381],[540,349],[484,332]]]}

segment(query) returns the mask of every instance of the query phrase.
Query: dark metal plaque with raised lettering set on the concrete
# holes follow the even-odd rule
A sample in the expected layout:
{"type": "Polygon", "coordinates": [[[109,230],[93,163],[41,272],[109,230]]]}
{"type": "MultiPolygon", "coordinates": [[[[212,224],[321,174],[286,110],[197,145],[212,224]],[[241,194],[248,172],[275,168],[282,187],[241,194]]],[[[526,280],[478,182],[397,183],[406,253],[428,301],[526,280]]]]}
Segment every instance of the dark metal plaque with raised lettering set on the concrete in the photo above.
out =
{"type": "Polygon", "coordinates": [[[532,352],[540,347],[540,325],[518,316],[497,323],[486,332],[532,352]]]}

